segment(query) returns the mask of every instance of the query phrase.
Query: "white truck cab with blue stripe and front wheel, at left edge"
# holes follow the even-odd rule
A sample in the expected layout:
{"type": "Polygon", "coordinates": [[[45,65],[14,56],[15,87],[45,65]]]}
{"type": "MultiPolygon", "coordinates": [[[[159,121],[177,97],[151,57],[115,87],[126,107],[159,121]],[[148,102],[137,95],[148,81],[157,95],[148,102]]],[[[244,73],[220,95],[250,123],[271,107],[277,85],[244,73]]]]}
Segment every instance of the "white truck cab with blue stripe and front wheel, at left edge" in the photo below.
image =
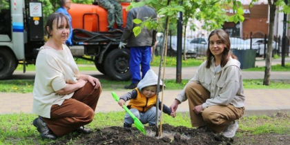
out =
{"type": "Polygon", "coordinates": [[[0,5],[0,79],[12,75],[18,64],[35,64],[43,45],[42,3],[2,0],[0,5]]]}

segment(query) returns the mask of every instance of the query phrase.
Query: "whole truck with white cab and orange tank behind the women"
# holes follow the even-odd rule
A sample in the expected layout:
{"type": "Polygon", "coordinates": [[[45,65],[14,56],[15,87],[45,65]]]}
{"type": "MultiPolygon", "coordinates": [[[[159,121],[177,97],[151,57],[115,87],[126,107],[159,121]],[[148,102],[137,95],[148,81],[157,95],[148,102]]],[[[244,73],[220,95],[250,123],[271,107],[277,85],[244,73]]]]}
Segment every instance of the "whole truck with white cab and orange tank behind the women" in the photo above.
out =
{"type": "MultiPolygon", "coordinates": [[[[23,64],[23,72],[27,65],[35,64],[39,48],[44,44],[44,24],[41,1],[3,1],[0,5],[0,79],[9,79],[19,64],[23,64]]],[[[125,25],[126,7],[130,3],[121,5],[125,25]]],[[[72,55],[94,61],[97,70],[111,79],[131,79],[129,50],[118,48],[122,32],[108,32],[107,11],[93,4],[72,3],[68,12],[74,29],[72,55]]]]}

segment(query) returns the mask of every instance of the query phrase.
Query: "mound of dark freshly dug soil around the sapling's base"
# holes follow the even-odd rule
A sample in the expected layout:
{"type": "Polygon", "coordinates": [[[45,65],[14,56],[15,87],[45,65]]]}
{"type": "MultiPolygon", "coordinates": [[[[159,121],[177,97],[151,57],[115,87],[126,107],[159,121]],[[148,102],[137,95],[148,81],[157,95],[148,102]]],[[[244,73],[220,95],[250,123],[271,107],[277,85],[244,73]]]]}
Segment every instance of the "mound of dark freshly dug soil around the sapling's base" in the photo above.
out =
{"type": "MultiPolygon", "coordinates": [[[[174,127],[168,124],[162,125],[162,137],[155,137],[156,127],[145,126],[147,135],[137,128],[131,130],[119,126],[111,126],[98,129],[90,135],[75,135],[73,144],[231,144],[233,139],[222,137],[204,129],[174,127]]],[[[55,144],[70,142],[71,135],[66,136],[55,144]]]]}

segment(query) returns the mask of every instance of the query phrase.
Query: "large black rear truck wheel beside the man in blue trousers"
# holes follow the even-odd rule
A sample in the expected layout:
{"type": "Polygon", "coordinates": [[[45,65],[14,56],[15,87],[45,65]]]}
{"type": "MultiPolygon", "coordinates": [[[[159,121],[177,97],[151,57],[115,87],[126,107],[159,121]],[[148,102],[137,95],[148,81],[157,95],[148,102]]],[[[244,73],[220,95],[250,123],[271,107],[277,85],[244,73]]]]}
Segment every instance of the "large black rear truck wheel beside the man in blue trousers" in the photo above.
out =
{"type": "Polygon", "coordinates": [[[126,48],[115,49],[108,53],[104,67],[106,74],[117,81],[131,79],[129,71],[130,51],[126,48]]]}

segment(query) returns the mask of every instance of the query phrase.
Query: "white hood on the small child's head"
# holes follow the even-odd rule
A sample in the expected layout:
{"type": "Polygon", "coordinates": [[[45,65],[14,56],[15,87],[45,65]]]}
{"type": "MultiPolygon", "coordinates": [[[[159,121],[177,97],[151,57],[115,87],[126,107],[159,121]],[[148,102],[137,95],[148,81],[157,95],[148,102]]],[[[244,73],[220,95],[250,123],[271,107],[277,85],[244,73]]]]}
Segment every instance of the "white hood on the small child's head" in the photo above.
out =
{"type": "MultiPolygon", "coordinates": [[[[155,72],[153,70],[148,70],[144,78],[141,81],[139,81],[137,88],[139,90],[142,90],[142,88],[146,86],[157,85],[158,83],[157,81],[158,81],[158,76],[155,74],[155,72]]],[[[162,91],[161,88],[162,88],[162,80],[160,80],[160,92],[162,91]]]]}

